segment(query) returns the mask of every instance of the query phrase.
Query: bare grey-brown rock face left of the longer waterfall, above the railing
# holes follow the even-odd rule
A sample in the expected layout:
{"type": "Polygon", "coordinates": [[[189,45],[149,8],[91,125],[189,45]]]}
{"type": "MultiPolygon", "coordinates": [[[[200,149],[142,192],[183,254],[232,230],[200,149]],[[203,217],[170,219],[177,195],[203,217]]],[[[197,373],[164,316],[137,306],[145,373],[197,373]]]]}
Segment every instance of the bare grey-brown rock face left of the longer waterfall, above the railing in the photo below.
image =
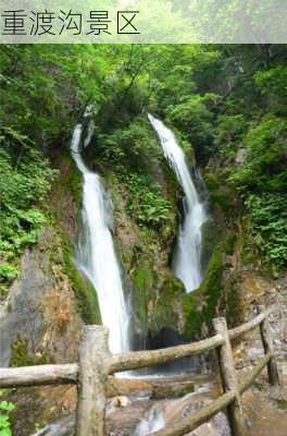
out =
{"type": "Polygon", "coordinates": [[[26,343],[33,356],[46,355],[48,361],[76,359],[82,323],[61,255],[51,228],[43,229],[38,244],[25,251],[22,277],[14,281],[0,307],[0,366],[10,364],[15,341],[26,343]]]}

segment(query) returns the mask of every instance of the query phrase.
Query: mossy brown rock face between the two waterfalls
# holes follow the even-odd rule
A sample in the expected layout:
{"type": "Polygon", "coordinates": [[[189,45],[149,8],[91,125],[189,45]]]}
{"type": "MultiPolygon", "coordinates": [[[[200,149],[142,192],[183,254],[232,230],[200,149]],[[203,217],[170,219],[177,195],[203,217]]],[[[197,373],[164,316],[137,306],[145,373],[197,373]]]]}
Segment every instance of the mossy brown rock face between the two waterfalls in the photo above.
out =
{"type": "MultiPolygon", "coordinates": [[[[163,173],[161,165],[157,161],[154,182],[161,186],[162,197],[174,208],[169,211],[165,226],[158,231],[139,225],[128,213],[128,186],[112,171],[105,177],[114,206],[114,241],[123,265],[126,301],[133,307],[134,349],[145,348],[149,334],[158,334],[162,328],[170,327],[179,334],[184,330],[180,302],[185,290],[171,267],[178,228],[178,190],[171,183],[171,175],[163,173]]],[[[136,204],[134,206],[136,208],[136,204]]]]}

